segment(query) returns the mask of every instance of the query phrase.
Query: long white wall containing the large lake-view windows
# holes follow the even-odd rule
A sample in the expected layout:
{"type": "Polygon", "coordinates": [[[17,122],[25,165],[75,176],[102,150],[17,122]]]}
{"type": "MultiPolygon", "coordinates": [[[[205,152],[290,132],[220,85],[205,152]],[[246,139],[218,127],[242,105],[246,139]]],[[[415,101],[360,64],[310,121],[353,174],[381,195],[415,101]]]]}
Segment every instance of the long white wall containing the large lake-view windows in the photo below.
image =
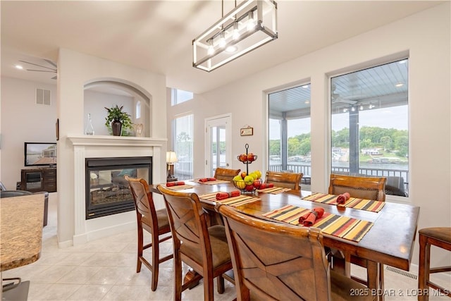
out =
{"type": "MultiPolygon", "coordinates": [[[[248,143],[249,151],[265,158],[267,105],[264,92],[309,80],[311,189],[326,191],[330,169],[328,75],[385,63],[408,54],[410,183],[407,202],[421,207],[419,228],[451,226],[450,35],[448,2],[233,84],[196,95],[190,102],[168,106],[168,125],[178,113],[196,108],[193,110],[194,177],[204,173],[203,164],[196,162],[204,161],[203,128],[206,117],[231,112],[233,154],[243,152],[245,143],[248,143]],[[240,128],[244,125],[254,128],[253,136],[240,136],[240,128]]],[[[235,160],[230,168],[243,166],[235,160]]],[[[257,159],[252,163],[252,168],[264,171],[266,162],[257,159]]],[[[433,263],[451,265],[449,253],[432,252],[433,263]]],[[[418,242],[412,260],[418,262],[418,242]]]]}

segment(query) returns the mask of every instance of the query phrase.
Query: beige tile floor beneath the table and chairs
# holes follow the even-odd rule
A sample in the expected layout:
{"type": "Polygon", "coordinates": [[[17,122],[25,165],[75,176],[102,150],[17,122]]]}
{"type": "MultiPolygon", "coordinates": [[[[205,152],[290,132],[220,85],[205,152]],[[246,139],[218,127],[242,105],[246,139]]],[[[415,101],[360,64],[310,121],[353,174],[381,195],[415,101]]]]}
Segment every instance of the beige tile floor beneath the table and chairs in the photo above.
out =
{"type": "MultiPolygon", "coordinates": [[[[53,194],[51,194],[53,195],[53,194]]],[[[142,266],[136,273],[136,233],[128,231],[85,245],[58,248],[56,240],[56,200],[49,199],[49,223],[44,227],[42,256],[37,262],[4,271],[4,278],[19,276],[30,281],[28,300],[173,300],[173,261],[161,264],[159,284],[150,289],[151,273],[142,266]]],[[[163,242],[163,253],[172,252],[171,242],[163,242]]],[[[354,269],[362,275],[362,270],[354,269]]],[[[448,280],[439,279],[451,287],[448,280]]],[[[416,300],[416,279],[385,270],[385,300],[416,300]]],[[[233,300],[235,286],[226,281],[226,292],[215,300],[233,300]]],[[[203,300],[203,285],[183,293],[183,300],[203,300]]],[[[431,297],[430,300],[450,300],[431,297]]]]}

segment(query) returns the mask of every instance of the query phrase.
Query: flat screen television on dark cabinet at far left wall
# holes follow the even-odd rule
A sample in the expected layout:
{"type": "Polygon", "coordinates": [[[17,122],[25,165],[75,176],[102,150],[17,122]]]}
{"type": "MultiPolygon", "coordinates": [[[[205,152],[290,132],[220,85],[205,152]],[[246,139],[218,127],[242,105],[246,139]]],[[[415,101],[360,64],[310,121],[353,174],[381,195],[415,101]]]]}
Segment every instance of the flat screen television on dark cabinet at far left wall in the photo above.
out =
{"type": "Polygon", "coordinates": [[[25,142],[25,166],[56,165],[56,143],[25,142]]]}

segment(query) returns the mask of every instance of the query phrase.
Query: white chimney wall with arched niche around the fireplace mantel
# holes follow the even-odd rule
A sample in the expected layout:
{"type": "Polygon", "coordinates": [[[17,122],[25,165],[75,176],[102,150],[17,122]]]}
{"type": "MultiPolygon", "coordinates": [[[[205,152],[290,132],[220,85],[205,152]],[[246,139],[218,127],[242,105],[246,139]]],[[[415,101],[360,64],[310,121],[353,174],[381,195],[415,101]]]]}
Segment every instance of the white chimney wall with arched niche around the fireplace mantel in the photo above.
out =
{"type": "MultiPolygon", "coordinates": [[[[162,75],[88,56],[69,49],[60,49],[58,56],[58,109],[60,140],[58,142],[58,242],[71,245],[74,227],[74,153],[68,135],[84,133],[84,87],[90,82],[113,80],[123,82],[147,94],[150,116],[150,137],[166,138],[166,81],[162,75]]],[[[166,146],[166,145],[165,145],[166,146]]],[[[162,152],[166,152],[163,149],[162,152]]],[[[163,156],[153,164],[165,166],[163,156]]],[[[166,168],[154,180],[166,178],[166,168]]],[[[157,199],[157,201],[161,201],[157,199]]]]}

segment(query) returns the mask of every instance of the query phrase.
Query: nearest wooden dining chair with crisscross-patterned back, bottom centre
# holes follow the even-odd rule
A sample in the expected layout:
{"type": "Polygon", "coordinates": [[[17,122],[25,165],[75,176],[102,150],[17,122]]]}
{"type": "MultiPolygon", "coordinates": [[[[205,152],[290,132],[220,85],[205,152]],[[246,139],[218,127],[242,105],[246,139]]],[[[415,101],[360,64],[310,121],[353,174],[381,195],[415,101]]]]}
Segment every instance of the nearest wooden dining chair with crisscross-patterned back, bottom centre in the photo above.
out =
{"type": "Polygon", "coordinates": [[[329,269],[319,228],[247,216],[216,204],[226,226],[237,300],[374,300],[364,285],[329,269]]]}

